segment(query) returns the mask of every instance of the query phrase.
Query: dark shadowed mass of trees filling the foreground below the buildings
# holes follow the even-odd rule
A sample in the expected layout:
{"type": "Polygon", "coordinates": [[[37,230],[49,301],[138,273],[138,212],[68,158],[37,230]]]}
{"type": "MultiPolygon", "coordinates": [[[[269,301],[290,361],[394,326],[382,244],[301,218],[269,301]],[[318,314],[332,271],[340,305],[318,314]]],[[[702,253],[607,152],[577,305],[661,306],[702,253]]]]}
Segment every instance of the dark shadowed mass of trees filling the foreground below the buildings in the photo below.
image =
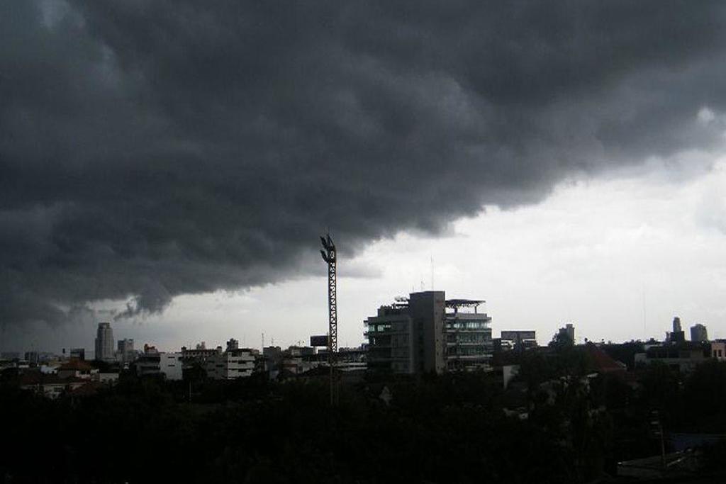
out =
{"type": "Polygon", "coordinates": [[[511,395],[491,374],[372,376],[341,386],[333,409],[325,379],[224,384],[126,374],[97,395],[57,401],[4,385],[0,476],[12,483],[578,483],[612,474],[619,459],[657,454],[648,426],[654,408],[669,430],[726,431],[718,403],[726,364],[703,365],[685,380],[654,366],[634,388],[613,377],[580,378],[581,357],[568,349],[525,358],[515,385],[526,388],[526,419],[505,414],[511,395]],[[552,380],[558,374],[572,376],[552,380]]]}

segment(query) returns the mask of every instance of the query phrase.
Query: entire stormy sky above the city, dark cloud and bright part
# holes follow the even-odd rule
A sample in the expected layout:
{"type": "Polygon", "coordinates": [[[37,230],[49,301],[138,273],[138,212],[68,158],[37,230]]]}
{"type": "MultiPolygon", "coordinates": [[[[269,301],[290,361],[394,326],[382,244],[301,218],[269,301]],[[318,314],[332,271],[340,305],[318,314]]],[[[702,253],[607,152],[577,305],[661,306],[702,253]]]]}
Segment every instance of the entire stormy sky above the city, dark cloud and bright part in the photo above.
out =
{"type": "Polygon", "coordinates": [[[483,298],[546,343],[723,329],[725,6],[0,4],[0,349],[483,298]]]}

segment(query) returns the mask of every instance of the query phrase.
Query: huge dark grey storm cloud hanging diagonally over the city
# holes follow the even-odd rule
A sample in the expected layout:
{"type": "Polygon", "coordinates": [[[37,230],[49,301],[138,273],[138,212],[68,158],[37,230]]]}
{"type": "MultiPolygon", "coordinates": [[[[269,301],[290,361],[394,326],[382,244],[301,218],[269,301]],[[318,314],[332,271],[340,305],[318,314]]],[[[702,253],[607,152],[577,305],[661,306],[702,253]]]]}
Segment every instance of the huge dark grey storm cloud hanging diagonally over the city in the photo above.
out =
{"type": "Polygon", "coordinates": [[[0,322],[249,287],[713,149],[722,2],[0,4],[0,322]]]}

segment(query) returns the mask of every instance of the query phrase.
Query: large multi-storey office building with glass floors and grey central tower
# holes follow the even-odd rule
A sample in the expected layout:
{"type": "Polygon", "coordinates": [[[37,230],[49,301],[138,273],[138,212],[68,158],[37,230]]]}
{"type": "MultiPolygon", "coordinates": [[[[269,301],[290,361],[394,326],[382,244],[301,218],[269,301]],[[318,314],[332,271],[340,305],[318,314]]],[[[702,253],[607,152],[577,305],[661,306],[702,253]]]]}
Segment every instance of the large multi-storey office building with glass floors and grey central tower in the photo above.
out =
{"type": "Polygon", "coordinates": [[[482,303],[425,291],[381,306],[364,321],[368,368],[408,374],[486,368],[492,319],[478,313],[482,303]]]}

